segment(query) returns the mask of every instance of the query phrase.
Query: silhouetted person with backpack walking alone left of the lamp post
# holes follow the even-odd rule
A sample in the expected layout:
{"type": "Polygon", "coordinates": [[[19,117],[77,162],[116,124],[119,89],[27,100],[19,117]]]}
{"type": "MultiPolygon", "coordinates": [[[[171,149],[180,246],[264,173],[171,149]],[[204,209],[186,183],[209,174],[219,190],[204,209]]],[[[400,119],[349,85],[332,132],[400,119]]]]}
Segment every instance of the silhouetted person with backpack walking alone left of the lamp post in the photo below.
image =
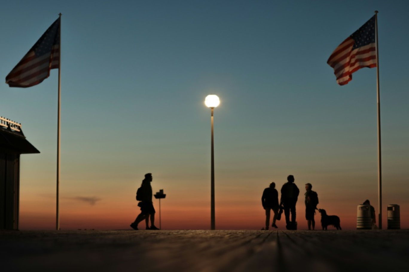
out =
{"type": "Polygon", "coordinates": [[[142,220],[146,219],[148,216],[151,217],[151,228],[150,230],[159,230],[155,227],[155,208],[153,208],[152,202],[152,174],[145,174],[145,179],[142,181],[140,192],[138,189],[137,194],[141,193],[141,202],[138,203],[138,206],[141,207],[141,213],[136,217],[135,221],[130,224],[131,228],[134,230],[138,229],[138,224],[142,220]]]}

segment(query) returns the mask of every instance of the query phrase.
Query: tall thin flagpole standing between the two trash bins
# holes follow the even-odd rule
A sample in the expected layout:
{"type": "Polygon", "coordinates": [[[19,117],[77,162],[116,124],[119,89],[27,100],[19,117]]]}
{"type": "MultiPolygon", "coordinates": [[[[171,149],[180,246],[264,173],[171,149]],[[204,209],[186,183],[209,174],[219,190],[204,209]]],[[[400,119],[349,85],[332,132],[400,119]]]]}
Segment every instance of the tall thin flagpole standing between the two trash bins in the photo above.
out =
{"type": "Polygon", "coordinates": [[[378,104],[378,210],[379,229],[382,230],[382,164],[381,164],[381,108],[379,94],[379,50],[378,50],[378,11],[375,11],[375,31],[376,31],[376,89],[378,104]]]}

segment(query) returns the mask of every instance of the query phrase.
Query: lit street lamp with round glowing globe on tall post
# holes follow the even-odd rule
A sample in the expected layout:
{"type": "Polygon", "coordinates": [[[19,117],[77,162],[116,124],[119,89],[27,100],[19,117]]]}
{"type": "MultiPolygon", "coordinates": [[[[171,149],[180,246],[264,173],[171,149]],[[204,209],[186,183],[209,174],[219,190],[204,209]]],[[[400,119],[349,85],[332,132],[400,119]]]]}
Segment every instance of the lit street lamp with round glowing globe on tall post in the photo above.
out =
{"type": "Polygon", "coordinates": [[[220,104],[217,95],[208,95],[205,99],[205,104],[211,110],[211,173],[210,173],[210,229],[215,229],[215,213],[214,213],[214,141],[213,141],[213,110],[220,104]]]}

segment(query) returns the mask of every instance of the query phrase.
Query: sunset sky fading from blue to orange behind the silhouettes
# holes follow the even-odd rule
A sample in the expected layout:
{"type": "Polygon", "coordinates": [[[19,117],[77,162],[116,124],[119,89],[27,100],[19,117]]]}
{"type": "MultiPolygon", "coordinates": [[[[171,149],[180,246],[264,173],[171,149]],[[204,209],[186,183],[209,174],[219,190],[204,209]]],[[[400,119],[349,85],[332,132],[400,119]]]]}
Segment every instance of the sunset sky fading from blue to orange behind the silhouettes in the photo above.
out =
{"type": "MultiPolygon", "coordinates": [[[[210,228],[214,110],[216,229],[261,229],[264,188],[288,175],[356,228],[378,214],[376,69],[338,86],[326,63],[378,10],[382,214],[409,228],[407,1],[7,1],[3,78],[61,18],[61,229],[130,229],[144,174],[162,229],[210,228]]],[[[55,229],[58,70],[30,88],[0,85],[0,115],[40,154],[21,155],[20,229],[55,229]]],[[[319,215],[315,217],[320,220],[319,215]]],[[[285,221],[277,222],[285,229],[285,221]]],[[[319,225],[319,223],[317,223],[319,225]]],[[[142,225],[141,225],[142,226],[142,225]]]]}

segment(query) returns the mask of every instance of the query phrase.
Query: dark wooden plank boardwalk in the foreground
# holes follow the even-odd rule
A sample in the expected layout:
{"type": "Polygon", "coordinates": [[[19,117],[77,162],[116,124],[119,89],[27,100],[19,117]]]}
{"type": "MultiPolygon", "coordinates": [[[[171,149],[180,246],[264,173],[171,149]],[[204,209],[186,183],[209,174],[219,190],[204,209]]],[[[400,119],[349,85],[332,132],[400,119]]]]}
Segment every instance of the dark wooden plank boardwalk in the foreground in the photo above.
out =
{"type": "Polygon", "coordinates": [[[0,231],[0,271],[407,271],[409,230],[0,231]]]}

